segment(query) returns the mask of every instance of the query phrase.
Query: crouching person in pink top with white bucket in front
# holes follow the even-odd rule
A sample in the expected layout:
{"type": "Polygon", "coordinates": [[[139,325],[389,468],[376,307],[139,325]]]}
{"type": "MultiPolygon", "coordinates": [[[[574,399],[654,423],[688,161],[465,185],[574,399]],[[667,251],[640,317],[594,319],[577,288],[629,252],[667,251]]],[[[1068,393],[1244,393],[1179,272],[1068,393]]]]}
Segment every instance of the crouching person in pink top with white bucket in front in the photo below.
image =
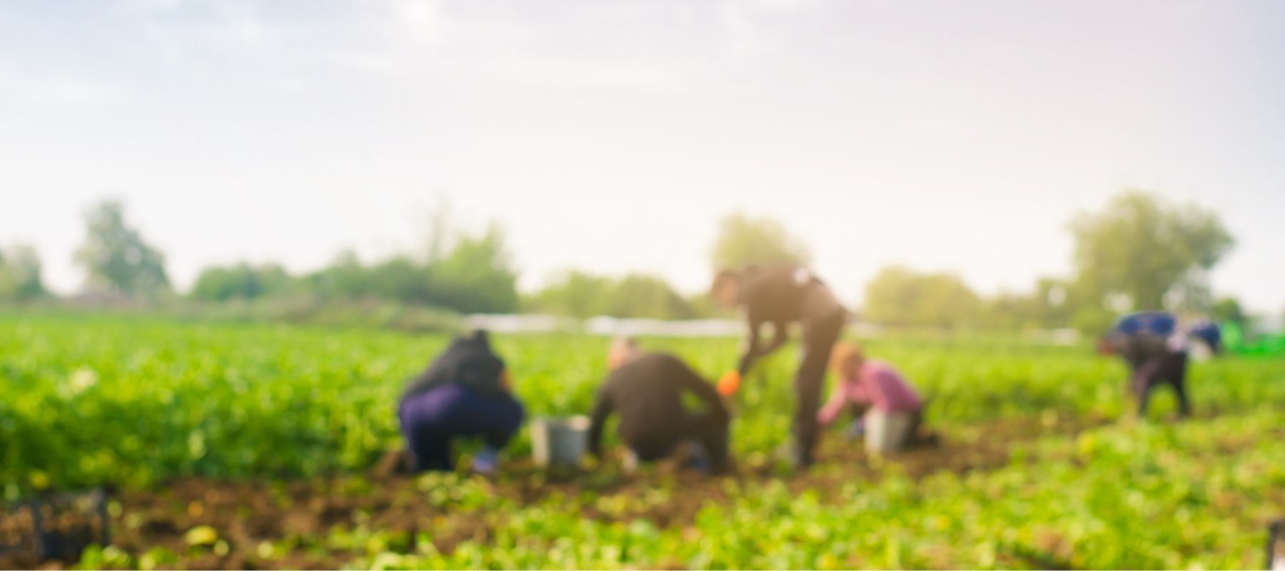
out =
{"type": "Polygon", "coordinates": [[[858,426],[869,451],[898,451],[916,442],[924,403],[892,365],[866,359],[856,345],[839,342],[831,351],[830,369],[839,383],[817,410],[819,424],[830,424],[852,405],[864,410],[858,426]]]}

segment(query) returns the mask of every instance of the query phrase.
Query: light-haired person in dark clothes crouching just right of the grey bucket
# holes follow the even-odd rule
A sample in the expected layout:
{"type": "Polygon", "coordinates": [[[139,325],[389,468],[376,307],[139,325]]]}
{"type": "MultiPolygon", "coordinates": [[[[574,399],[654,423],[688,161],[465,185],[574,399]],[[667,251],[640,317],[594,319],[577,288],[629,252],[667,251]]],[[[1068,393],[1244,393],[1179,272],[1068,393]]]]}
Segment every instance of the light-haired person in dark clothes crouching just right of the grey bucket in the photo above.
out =
{"type": "Polygon", "coordinates": [[[634,340],[617,340],[608,355],[612,369],[598,391],[589,428],[589,453],[601,457],[608,417],[621,415],[618,433],[636,459],[654,462],[687,444],[713,472],[727,467],[727,409],[714,388],[672,355],[642,352],[634,340]],[[705,409],[684,406],[691,392],[705,409]]]}

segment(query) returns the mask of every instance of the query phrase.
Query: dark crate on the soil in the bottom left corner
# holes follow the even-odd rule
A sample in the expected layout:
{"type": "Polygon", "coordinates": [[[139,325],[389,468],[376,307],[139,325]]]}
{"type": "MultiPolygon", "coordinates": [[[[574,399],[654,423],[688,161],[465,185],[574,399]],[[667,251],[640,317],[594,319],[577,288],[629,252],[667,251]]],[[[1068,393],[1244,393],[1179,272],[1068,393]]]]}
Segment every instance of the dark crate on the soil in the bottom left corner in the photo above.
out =
{"type": "Polygon", "coordinates": [[[10,505],[0,516],[0,556],[77,561],[90,544],[108,545],[108,491],[45,494],[10,505]]]}

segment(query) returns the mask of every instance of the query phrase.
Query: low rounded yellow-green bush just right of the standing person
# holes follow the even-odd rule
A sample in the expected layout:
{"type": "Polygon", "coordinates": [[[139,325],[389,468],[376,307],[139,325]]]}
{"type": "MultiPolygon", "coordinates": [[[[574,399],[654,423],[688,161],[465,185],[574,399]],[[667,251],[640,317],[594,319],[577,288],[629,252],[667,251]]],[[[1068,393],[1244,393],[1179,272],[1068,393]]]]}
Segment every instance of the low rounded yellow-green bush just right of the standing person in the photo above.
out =
{"type": "Polygon", "coordinates": [[[970,324],[980,300],[952,274],[889,266],[866,284],[864,318],[885,325],[955,328],[970,324]]]}

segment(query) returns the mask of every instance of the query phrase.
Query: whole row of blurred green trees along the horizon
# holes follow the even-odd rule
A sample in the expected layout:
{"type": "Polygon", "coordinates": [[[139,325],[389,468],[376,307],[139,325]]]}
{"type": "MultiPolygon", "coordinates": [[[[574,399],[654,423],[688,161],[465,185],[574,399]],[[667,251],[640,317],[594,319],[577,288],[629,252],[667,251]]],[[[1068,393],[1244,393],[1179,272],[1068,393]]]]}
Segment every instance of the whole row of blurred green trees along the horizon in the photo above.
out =
{"type": "MultiPolygon", "coordinates": [[[[694,319],[717,315],[703,292],[684,295],[648,274],[625,276],[565,270],[529,295],[518,291],[518,270],[504,229],[492,224],[465,231],[443,208],[430,220],[421,255],[364,261],[352,251],[326,266],[290,274],[279,264],[239,262],[207,267],[188,292],[175,292],[164,255],[127,221],[125,204],[105,201],[85,217],[86,238],[75,258],[93,295],[203,304],[311,300],[317,304],[380,301],[455,313],[545,313],[574,318],[694,319]]],[[[1081,212],[1068,224],[1076,247],[1072,271],[1038,279],[1027,292],[982,296],[951,273],[889,266],[861,296],[861,318],[907,328],[1024,329],[1076,327],[1100,331],[1124,311],[1171,309],[1244,322],[1239,302],[1216,298],[1207,275],[1234,239],[1217,215],[1128,190],[1105,208],[1081,212]]],[[[720,221],[709,248],[712,269],[747,264],[808,265],[807,246],[770,217],[732,213],[720,221]]],[[[842,292],[840,292],[842,295],[842,292]]],[[[51,296],[41,282],[35,249],[0,248],[0,301],[51,296]]]]}

